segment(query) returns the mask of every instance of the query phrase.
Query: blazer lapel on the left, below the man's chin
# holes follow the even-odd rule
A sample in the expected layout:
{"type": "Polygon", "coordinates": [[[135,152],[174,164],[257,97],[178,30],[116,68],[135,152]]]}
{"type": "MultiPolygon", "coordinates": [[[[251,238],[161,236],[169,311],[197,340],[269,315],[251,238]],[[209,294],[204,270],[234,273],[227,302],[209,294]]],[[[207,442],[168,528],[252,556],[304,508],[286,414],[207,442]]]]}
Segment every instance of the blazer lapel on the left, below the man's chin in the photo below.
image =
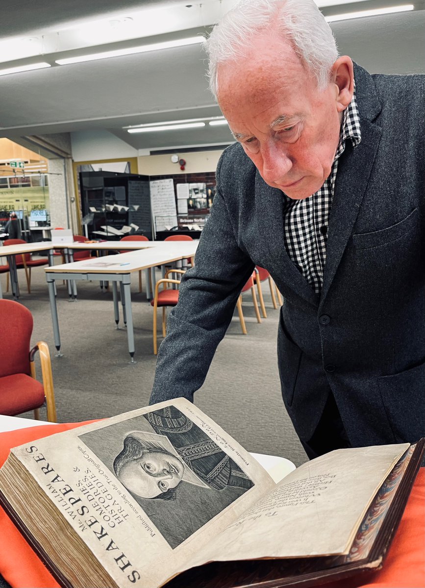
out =
{"type": "MultiPolygon", "coordinates": [[[[284,243],[284,206],[285,197],[277,188],[268,186],[260,173],[255,177],[255,196],[257,200],[258,229],[263,246],[268,249],[267,259],[271,273],[280,288],[282,284],[301,296],[306,302],[317,306],[318,296],[300,270],[290,260],[284,243]]],[[[283,296],[285,298],[285,293],[283,296]]]]}

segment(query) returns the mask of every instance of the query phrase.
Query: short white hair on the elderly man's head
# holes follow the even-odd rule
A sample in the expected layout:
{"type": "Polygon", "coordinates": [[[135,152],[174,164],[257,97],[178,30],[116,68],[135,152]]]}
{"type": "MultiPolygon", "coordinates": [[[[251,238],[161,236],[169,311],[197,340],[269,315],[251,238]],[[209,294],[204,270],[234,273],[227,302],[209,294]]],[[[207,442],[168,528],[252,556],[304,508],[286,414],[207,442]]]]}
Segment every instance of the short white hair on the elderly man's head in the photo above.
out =
{"type": "MultiPolygon", "coordinates": [[[[205,41],[210,60],[210,89],[215,98],[218,64],[243,57],[251,38],[268,28],[288,39],[316,77],[318,88],[326,88],[338,49],[330,26],[313,0],[241,0],[224,15],[205,41]]],[[[275,66],[278,67],[278,55],[275,66]]]]}

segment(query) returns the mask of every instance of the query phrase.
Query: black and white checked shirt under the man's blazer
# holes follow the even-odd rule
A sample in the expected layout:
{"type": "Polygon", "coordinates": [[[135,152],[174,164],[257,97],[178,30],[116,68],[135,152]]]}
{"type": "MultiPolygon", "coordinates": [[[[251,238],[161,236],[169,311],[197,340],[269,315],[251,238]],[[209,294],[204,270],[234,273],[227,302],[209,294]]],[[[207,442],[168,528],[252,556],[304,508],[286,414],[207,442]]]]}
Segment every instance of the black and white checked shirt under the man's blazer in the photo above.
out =
{"type": "Polygon", "coordinates": [[[338,159],[344,152],[347,139],[351,140],[353,147],[356,147],[361,140],[355,91],[350,104],[344,111],[340,142],[331,173],[323,186],[313,196],[304,200],[291,200],[284,195],[287,199],[284,212],[285,249],[317,294],[320,294],[323,283],[327,230],[337,177],[338,159]]]}

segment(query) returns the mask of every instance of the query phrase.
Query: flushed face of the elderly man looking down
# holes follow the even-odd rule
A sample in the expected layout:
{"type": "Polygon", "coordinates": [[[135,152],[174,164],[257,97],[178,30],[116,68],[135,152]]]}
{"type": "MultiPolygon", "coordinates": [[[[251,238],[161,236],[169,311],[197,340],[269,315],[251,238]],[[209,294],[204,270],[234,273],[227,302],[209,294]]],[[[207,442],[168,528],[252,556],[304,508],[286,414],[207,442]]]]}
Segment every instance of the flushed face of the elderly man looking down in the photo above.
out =
{"type": "Polygon", "coordinates": [[[266,32],[244,58],[220,64],[218,103],[268,185],[295,200],[321,188],[339,141],[338,86],[319,91],[287,42],[266,32]]]}

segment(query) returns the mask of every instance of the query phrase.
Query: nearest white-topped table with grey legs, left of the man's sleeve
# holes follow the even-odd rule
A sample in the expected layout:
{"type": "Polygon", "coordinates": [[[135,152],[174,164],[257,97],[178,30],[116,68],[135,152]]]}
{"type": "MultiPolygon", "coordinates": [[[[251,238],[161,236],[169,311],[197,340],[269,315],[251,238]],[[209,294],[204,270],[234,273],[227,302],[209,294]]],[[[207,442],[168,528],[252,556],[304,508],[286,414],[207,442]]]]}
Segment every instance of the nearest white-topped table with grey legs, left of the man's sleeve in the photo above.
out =
{"type": "MultiPolygon", "coordinates": [[[[182,242],[184,243],[184,242],[182,242]]],[[[53,332],[57,357],[61,357],[61,338],[59,335],[58,310],[55,296],[55,280],[101,280],[112,282],[112,294],[114,297],[115,323],[119,323],[118,309],[118,284],[121,290],[121,303],[124,313],[124,322],[127,323],[128,352],[130,363],[134,363],[134,332],[131,312],[131,274],[140,270],[164,266],[168,263],[181,261],[194,255],[196,243],[186,242],[188,246],[176,251],[172,246],[154,247],[132,251],[130,253],[118,253],[105,258],[88,259],[72,263],[63,263],[45,268],[46,280],[49,288],[49,300],[52,313],[53,332]]],[[[155,288],[155,276],[152,273],[152,287],[155,288]]],[[[76,290],[74,291],[76,295],[76,290]]]]}

